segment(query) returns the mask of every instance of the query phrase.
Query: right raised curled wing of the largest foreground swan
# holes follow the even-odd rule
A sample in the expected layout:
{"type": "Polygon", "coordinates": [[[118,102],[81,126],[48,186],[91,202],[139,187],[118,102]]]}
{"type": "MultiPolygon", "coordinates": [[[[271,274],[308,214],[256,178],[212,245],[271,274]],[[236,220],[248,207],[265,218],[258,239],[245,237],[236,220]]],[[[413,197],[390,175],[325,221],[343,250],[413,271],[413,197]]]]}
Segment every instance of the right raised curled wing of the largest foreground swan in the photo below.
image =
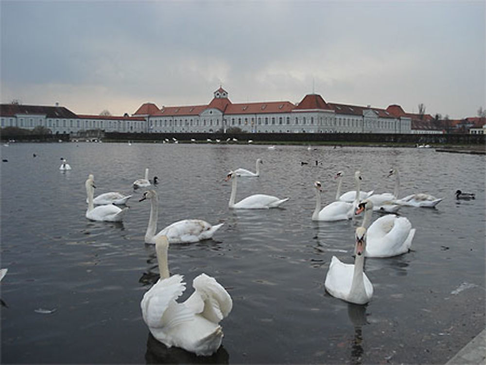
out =
{"type": "Polygon", "coordinates": [[[184,304],[194,313],[217,324],[231,312],[233,300],[215,278],[201,274],[192,281],[192,286],[195,291],[184,304]]]}

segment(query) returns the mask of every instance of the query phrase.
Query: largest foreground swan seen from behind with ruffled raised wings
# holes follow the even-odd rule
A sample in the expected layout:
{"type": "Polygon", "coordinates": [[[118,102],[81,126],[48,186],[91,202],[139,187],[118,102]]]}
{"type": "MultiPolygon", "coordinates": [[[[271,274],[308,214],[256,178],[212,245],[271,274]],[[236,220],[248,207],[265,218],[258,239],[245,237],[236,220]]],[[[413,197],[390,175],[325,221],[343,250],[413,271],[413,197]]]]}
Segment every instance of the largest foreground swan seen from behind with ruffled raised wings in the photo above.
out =
{"type": "Polygon", "coordinates": [[[186,289],[181,275],[169,274],[165,236],[156,239],[160,278],[141,300],[143,321],[152,335],[167,347],[183,348],[196,355],[211,355],[221,346],[219,322],[233,308],[231,296],[216,279],[206,274],[194,278],[194,293],[183,303],[176,299],[186,289]]]}

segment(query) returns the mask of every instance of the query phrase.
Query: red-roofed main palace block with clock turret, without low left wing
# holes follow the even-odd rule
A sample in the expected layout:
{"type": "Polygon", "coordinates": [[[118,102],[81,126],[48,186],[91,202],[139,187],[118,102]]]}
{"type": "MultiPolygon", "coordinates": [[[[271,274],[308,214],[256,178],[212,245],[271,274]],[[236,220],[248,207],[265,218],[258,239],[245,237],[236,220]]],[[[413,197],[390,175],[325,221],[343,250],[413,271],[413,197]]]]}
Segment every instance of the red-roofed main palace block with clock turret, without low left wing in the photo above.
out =
{"type": "MultiPolygon", "coordinates": [[[[396,106],[390,105],[395,111],[396,106]]],[[[401,110],[401,107],[399,107],[401,110]]],[[[220,87],[205,105],[163,106],[146,103],[133,116],[143,116],[148,132],[216,132],[238,127],[249,133],[412,133],[411,118],[371,106],[326,103],[308,94],[298,104],[288,101],[233,104],[220,87]]]]}

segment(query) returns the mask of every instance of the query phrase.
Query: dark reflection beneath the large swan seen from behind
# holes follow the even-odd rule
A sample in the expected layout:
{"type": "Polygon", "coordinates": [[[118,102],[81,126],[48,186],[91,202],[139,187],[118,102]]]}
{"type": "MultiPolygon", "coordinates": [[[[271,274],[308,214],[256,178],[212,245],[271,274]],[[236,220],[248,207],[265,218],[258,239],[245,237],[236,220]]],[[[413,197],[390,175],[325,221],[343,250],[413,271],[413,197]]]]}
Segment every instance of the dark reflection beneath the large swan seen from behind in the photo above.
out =
{"type": "Polygon", "coordinates": [[[211,356],[197,356],[182,348],[168,348],[158,342],[152,333],[147,338],[146,364],[229,364],[229,354],[221,345],[211,356]]]}

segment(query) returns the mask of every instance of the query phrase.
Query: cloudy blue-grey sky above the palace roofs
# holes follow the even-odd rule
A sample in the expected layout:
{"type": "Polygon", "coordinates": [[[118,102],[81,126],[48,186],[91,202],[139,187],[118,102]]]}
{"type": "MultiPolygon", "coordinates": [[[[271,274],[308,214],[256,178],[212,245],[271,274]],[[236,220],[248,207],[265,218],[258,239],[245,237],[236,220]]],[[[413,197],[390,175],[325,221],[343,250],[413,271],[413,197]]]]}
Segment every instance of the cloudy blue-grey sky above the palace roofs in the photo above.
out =
{"type": "Polygon", "coordinates": [[[486,108],[485,1],[0,0],[1,103],[133,114],[144,103],[486,108]]]}

